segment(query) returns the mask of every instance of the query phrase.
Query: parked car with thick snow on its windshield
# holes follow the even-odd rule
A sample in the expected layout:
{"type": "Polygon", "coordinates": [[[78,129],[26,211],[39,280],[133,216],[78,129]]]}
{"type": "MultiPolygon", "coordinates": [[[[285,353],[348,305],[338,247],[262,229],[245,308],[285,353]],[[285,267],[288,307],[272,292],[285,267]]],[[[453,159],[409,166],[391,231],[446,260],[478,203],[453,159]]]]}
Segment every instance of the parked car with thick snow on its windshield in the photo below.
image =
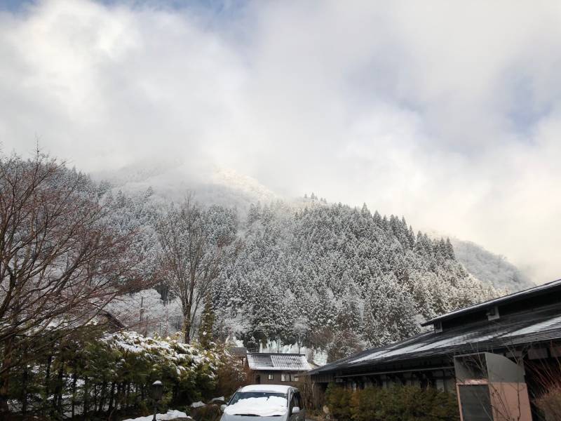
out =
{"type": "Polygon", "coordinates": [[[296,387],[250,385],[231,397],[220,421],[305,421],[306,413],[296,387]]]}

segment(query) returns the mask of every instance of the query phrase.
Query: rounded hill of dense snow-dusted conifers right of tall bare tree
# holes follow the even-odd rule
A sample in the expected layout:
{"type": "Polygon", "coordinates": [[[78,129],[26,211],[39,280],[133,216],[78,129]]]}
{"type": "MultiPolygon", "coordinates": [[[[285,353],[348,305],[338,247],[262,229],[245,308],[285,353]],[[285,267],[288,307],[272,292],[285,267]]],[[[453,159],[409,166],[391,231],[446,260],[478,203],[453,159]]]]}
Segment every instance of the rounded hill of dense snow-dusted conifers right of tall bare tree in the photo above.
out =
{"type": "Polygon", "coordinates": [[[450,241],[366,206],[256,205],[241,236],[214,302],[224,326],[248,343],[302,341],[339,356],[405,338],[421,319],[494,294],[459,265],[450,241]]]}

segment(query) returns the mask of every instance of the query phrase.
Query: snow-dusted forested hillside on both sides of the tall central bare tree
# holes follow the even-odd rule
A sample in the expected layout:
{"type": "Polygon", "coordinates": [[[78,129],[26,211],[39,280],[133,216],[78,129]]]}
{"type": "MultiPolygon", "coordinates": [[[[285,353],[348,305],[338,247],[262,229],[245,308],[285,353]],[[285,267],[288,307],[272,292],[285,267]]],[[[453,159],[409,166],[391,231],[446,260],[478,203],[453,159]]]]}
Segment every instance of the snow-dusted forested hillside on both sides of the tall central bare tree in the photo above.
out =
{"type": "Polygon", "coordinates": [[[164,231],[173,227],[177,244],[189,241],[194,228],[180,218],[185,209],[151,188],[123,194],[93,181],[87,188],[106,203],[111,225],[136,234],[138,267],[158,293],[123,295],[108,308],[123,323],[142,321],[143,333],[173,333],[187,320],[186,337],[197,338],[209,296],[214,338],[236,337],[252,348],[269,340],[299,344],[334,359],[410,336],[424,319],[496,294],[457,262],[449,240],[415,232],[395,215],[314,195],[255,203],[247,211],[202,206],[194,196],[187,212],[198,215],[197,229],[206,233],[203,260],[212,260],[215,273],[198,281],[186,308],[162,258],[164,231]],[[213,253],[228,258],[213,260],[213,253]]]}

